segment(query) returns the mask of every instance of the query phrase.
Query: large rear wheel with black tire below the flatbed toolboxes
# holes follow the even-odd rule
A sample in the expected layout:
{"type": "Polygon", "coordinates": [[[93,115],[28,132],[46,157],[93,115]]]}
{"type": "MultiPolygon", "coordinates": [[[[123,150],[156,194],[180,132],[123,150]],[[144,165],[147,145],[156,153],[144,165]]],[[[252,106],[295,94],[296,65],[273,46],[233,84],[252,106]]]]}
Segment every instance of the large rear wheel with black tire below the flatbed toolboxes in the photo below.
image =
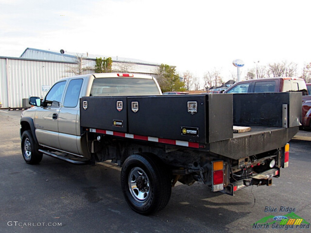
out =
{"type": "Polygon", "coordinates": [[[151,214],[169,202],[171,176],[164,164],[149,154],[129,156],[121,171],[121,186],[128,205],[137,213],[151,214]]]}

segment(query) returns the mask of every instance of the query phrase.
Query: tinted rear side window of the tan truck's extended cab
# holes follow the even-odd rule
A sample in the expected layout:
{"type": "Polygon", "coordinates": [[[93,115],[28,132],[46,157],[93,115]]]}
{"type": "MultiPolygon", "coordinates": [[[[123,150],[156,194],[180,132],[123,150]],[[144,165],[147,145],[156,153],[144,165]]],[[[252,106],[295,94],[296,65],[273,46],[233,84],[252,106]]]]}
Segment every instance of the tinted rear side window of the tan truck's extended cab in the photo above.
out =
{"type": "Polygon", "coordinates": [[[80,90],[83,79],[73,79],[69,82],[65,99],[64,107],[76,107],[79,100],[80,90]]]}

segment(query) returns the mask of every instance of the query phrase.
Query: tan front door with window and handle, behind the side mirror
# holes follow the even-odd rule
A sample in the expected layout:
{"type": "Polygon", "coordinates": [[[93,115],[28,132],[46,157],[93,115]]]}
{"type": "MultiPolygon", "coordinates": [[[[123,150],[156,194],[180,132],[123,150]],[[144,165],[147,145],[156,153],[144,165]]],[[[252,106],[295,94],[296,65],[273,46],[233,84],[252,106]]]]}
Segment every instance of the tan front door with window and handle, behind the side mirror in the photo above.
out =
{"type": "Polygon", "coordinates": [[[46,95],[43,107],[39,107],[35,116],[35,133],[39,144],[60,148],[58,141],[58,115],[63,99],[66,81],[53,85],[46,95]]]}

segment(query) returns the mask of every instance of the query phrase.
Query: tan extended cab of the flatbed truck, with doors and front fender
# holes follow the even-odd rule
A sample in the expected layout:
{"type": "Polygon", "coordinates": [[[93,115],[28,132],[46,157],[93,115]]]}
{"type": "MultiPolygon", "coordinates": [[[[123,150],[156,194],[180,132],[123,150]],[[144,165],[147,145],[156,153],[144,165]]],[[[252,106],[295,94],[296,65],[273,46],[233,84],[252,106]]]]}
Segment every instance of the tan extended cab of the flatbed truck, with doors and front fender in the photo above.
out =
{"type": "Polygon", "coordinates": [[[147,75],[103,73],[61,79],[42,102],[30,97],[34,107],[22,114],[21,135],[32,129],[39,146],[81,156],[87,153],[80,131],[81,97],[160,94],[156,80],[147,75]]]}

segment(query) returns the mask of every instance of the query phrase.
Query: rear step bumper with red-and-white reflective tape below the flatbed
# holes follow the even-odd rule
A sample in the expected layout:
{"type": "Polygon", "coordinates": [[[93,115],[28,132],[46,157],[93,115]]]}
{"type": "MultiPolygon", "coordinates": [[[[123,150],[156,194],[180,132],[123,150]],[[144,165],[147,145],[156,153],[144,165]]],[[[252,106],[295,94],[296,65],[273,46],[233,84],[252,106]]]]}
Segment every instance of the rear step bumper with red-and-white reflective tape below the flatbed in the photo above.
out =
{"type": "Polygon", "coordinates": [[[247,177],[244,180],[238,180],[230,183],[228,186],[224,187],[224,192],[226,194],[234,195],[234,192],[248,187],[250,185],[272,185],[272,177],[280,177],[280,168],[272,168],[262,173],[258,173],[254,176],[247,177]]]}

